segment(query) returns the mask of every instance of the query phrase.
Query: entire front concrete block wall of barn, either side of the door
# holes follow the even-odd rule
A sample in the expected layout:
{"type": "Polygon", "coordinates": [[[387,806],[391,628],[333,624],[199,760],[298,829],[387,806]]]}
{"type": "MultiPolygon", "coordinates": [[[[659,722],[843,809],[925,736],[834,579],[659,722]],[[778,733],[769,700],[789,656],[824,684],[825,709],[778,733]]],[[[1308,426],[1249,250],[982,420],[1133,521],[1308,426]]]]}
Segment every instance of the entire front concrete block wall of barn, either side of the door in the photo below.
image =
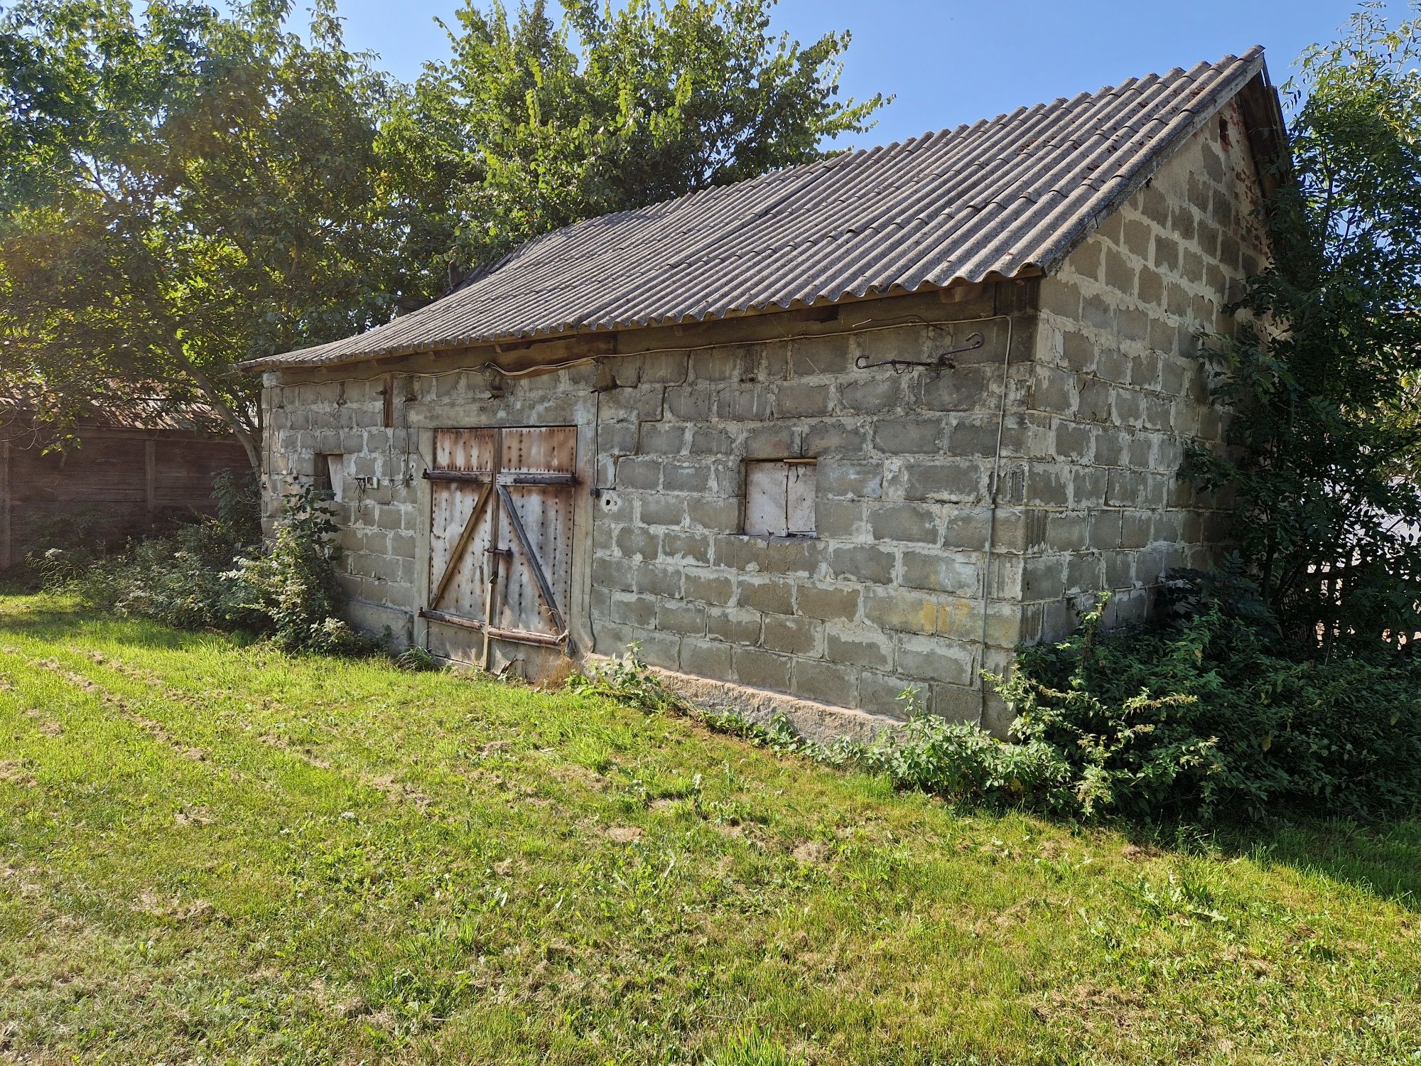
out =
{"type": "MultiPolygon", "coordinates": [[[[773,343],[685,350],[695,340],[641,331],[621,340],[682,350],[607,360],[610,388],[590,365],[503,381],[496,391],[473,368],[395,372],[388,381],[360,367],[271,375],[269,507],[313,473],[314,456],[344,453],[341,580],[354,617],[412,640],[419,569],[428,567],[419,539],[428,485],[418,476],[428,434],[595,426],[591,483],[577,502],[577,536],[590,544],[584,648],[618,654],[638,642],[652,665],[877,714],[894,714],[898,694],[915,688],[938,714],[976,718],[979,671],[1005,668],[1020,634],[1013,597],[1026,532],[1027,426],[1009,415],[1002,483],[1016,486],[1016,499],[995,519],[988,647],[980,642],[1003,371],[1007,409],[1019,409],[1034,347],[1033,290],[1015,283],[946,300],[851,304],[836,321],[803,317],[804,333],[840,335],[773,343]],[[975,330],[982,347],[953,357],[951,370],[854,365],[860,355],[931,360],[975,330]],[[1009,341],[1015,360],[1005,368],[1009,341]],[[340,381],[344,374],[351,379],[340,381]],[[740,533],[745,462],[776,458],[817,462],[813,539],[740,533]],[[352,478],[377,480],[361,486],[352,478]]],[[[735,328],[723,325],[710,335],[735,328]]],[[[779,323],[756,328],[772,337],[796,331],[779,323]]],[[[588,435],[581,439],[585,446],[588,435]]],[[[993,715],[1002,716],[995,699],[993,715]]]]}

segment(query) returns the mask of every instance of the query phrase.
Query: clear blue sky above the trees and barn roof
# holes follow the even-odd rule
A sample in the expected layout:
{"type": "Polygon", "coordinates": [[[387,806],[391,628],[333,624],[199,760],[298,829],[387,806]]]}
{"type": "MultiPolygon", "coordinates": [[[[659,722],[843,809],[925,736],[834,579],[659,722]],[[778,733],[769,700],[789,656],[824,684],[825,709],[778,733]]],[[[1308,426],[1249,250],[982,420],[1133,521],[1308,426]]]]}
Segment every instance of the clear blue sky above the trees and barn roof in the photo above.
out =
{"type": "MultiPolygon", "coordinates": [[[[379,53],[381,65],[405,80],[422,61],[448,53],[433,18],[452,23],[456,6],[340,0],[347,43],[379,53]]],[[[1297,54],[1313,41],[1333,40],[1354,10],[1344,0],[782,0],[773,24],[800,40],[853,31],[844,91],[858,98],[897,94],[878,125],[853,138],[871,145],[1218,60],[1253,44],[1268,50],[1273,81],[1282,84],[1297,54]]]]}

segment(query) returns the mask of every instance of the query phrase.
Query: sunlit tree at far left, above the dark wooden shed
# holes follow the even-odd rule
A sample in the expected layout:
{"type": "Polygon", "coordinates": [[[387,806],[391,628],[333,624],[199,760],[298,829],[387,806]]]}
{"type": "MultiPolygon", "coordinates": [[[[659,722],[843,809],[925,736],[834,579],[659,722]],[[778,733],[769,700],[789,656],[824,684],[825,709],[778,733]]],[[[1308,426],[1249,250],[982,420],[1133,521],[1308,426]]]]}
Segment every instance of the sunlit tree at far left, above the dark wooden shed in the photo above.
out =
{"type": "Polygon", "coordinates": [[[382,321],[388,87],[317,0],[23,0],[0,16],[0,388],[64,424],[156,389],[259,462],[233,364],[382,321]]]}

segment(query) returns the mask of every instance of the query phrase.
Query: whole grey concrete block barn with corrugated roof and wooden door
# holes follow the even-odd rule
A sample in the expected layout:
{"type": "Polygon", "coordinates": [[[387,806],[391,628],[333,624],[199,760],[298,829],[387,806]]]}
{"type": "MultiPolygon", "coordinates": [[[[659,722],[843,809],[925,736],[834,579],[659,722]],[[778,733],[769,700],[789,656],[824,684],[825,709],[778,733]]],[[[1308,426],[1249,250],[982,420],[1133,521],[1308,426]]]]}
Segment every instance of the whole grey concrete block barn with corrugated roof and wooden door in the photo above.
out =
{"type": "Polygon", "coordinates": [[[1177,470],[1280,125],[1255,48],[539,237],[249,364],[269,515],[330,486],[352,621],[449,659],[1000,731],[982,669],[1222,537],[1177,470]]]}

